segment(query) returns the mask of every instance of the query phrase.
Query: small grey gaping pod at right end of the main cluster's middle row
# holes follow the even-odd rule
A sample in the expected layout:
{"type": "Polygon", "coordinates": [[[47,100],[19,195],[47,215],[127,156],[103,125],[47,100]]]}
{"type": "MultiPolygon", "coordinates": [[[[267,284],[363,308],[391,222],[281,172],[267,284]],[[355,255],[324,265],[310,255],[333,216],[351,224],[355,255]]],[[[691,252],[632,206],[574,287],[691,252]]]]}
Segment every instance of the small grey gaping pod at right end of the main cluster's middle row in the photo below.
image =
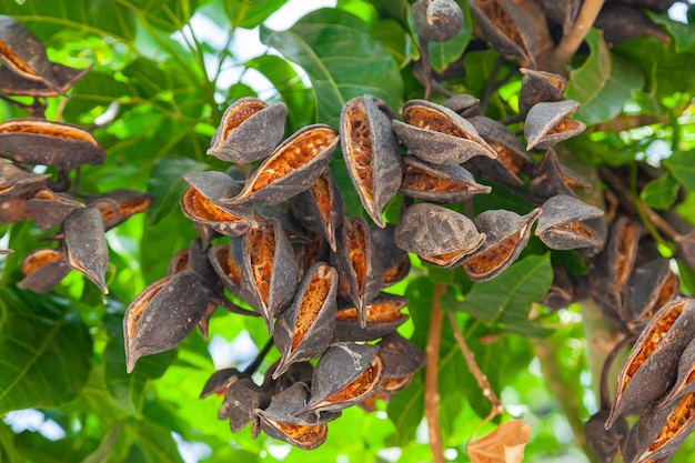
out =
{"type": "Polygon", "coordinates": [[[587,220],[603,211],[575,197],[557,194],[543,203],[535,234],[551,249],[568,250],[595,245],[600,235],[587,220]]]}

